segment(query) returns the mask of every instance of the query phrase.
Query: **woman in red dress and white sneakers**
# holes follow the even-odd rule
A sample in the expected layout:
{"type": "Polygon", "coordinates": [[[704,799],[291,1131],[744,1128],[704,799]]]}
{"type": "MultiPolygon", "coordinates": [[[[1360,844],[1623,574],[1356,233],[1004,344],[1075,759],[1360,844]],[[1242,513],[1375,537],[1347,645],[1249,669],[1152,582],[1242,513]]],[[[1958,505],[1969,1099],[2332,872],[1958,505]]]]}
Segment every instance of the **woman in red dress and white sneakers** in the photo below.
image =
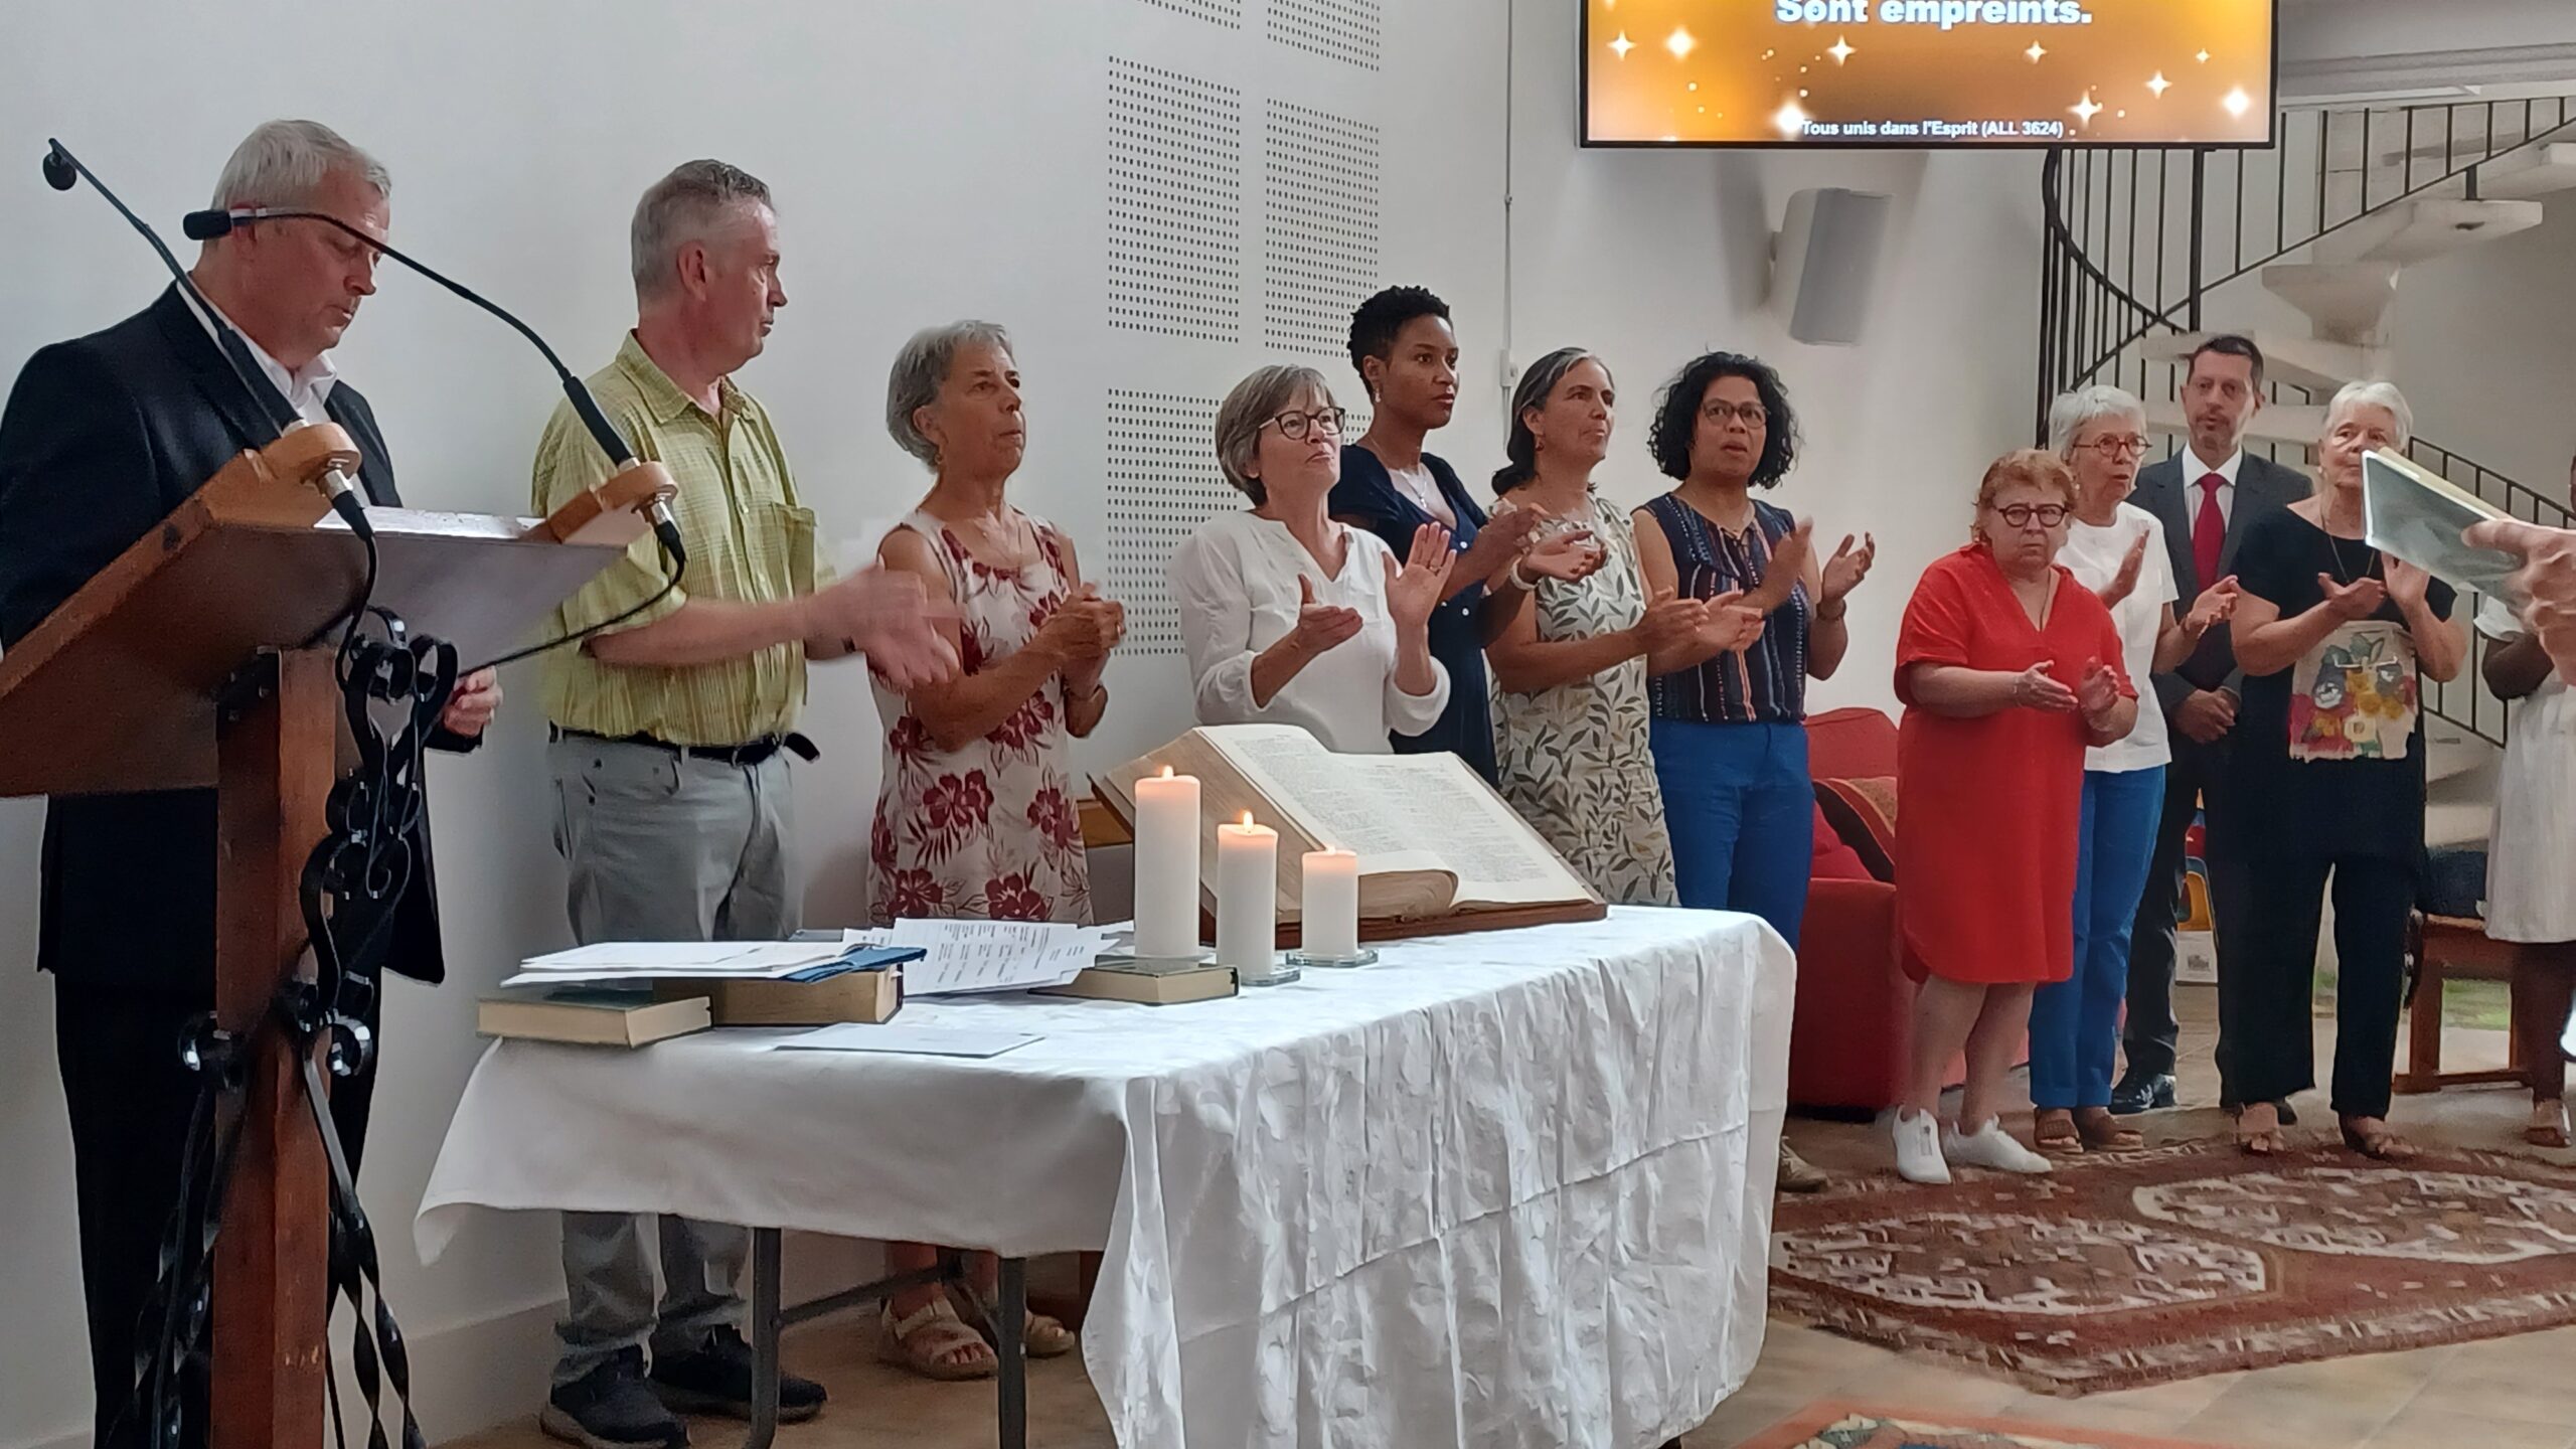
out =
{"type": "Polygon", "coordinates": [[[2138,722],[2110,608],[2056,562],[2074,500],[2056,456],[1996,459],[1973,541],[1924,570],[1896,639],[1896,918],[1922,990],[1893,1129],[1896,1171],[1917,1183],[1947,1183],[1950,1163],[2048,1171],[2004,1132],[1996,1096],[2032,987],[2074,969],[2084,750],[2138,722]],[[1942,1132],[1960,1047],[1968,1088],[1942,1132]]]}

